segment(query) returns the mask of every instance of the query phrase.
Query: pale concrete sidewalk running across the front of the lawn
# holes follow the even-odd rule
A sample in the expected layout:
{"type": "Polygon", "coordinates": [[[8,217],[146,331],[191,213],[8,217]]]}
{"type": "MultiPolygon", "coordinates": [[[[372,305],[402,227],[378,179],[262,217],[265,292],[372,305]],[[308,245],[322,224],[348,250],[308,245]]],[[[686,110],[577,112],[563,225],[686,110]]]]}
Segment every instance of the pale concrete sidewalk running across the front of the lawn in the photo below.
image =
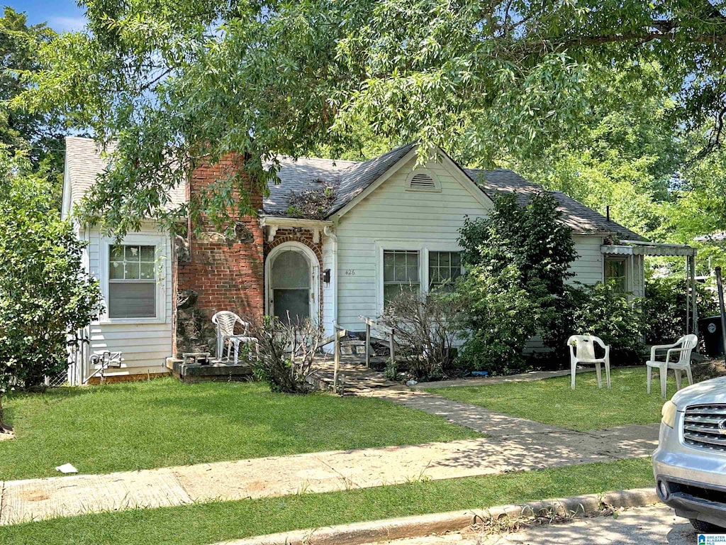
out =
{"type": "Polygon", "coordinates": [[[486,412],[492,424],[486,432],[491,437],[481,439],[7,481],[0,483],[0,525],[639,458],[650,455],[658,438],[657,426],[582,433],[486,412]],[[502,429],[503,435],[496,429],[502,429]]]}

